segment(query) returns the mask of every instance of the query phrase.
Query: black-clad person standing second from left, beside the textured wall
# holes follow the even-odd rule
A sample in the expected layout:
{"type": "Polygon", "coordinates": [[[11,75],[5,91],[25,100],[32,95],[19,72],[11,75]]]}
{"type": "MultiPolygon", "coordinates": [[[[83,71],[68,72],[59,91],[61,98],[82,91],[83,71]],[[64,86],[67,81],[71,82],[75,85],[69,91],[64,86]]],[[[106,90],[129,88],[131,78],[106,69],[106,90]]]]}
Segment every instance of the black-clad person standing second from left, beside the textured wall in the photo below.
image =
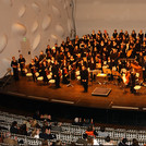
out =
{"type": "Polygon", "coordinates": [[[19,64],[20,64],[20,68],[21,68],[21,75],[25,76],[25,58],[23,58],[22,54],[20,54],[19,64]]]}

